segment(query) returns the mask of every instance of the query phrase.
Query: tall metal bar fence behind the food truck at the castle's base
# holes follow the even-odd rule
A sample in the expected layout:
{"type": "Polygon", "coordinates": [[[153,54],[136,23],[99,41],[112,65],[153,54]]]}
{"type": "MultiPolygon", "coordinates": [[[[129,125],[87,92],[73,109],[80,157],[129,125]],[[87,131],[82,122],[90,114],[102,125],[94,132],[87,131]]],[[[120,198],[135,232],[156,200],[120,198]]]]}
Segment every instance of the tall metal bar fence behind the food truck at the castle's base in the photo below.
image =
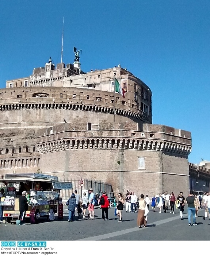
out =
{"type": "MultiPolygon", "coordinates": [[[[0,180],[4,179],[5,175],[1,174],[0,175],[0,180]]],[[[83,194],[83,190],[87,190],[89,191],[89,189],[93,189],[93,193],[99,193],[101,194],[102,191],[106,191],[106,194],[108,195],[108,197],[112,197],[113,196],[113,190],[112,190],[112,186],[111,184],[107,184],[105,182],[102,181],[96,181],[96,180],[83,180],[83,182],[81,182],[80,179],[64,179],[64,178],[59,178],[58,177],[58,181],[61,182],[72,182],[72,189],[63,189],[61,190],[60,196],[62,197],[62,201],[67,201],[69,199],[69,197],[71,196],[72,193],[75,192],[75,190],[77,190],[77,194],[80,195],[80,197],[83,194]]],[[[5,184],[4,182],[0,182],[0,189],[5,189],[5,184]]],[[[88,196],[88,194],[87,194],[88,196]]]]}

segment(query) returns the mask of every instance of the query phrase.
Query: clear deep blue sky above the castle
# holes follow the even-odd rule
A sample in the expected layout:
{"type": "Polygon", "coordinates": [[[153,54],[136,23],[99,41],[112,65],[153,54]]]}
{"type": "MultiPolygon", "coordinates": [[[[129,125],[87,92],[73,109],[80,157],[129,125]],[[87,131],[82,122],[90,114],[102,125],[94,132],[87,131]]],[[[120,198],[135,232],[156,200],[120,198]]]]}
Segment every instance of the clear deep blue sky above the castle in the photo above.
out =
{"type": "Polygon", "coordinates": [[[210,160],[210,0],[0,1],[0,88],[82,49],[83,71],[121,64],[153,92],[153,123],[192,132],[210,160]]]}

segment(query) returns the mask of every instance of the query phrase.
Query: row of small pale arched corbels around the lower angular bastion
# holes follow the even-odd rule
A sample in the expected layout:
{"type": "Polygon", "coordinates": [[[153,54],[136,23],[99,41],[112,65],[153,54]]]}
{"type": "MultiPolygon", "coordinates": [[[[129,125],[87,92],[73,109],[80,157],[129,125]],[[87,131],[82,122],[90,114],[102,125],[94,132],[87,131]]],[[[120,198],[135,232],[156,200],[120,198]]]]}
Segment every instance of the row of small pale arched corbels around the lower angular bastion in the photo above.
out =
{"type": "Polygon", "coordinates": [[[54,140],[53,142],[37,143],[37,151],[40,154],[62,151],[62,150],[85,150],[85,149],[126,149],[160,151],[177,155],[188,156],[191,145],[181,143],[169,143],[164,140],[140,140],[140,139],[109,139],[109,138],[69,138],[54,140]]]}

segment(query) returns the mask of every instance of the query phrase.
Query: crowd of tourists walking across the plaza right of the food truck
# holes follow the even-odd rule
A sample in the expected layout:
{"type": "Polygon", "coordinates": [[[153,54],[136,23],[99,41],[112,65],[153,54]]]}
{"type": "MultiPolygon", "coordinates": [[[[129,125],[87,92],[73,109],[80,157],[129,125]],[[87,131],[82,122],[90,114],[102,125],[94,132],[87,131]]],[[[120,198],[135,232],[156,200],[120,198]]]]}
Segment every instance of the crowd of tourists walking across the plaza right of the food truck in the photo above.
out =
{"type": "MultiPolygon", "coordinates": [[[[140,195],[140,198],[135,195],[135,193],[129,192],[127,190],[125,199],[123,198],[122,193],[118,193],[116,200],[116,209],[115,215],[119,216],[118,222],[122,222],[122,212],[125,208],[126,212],[137,213],[138,208],[138,216],[137,216],[137,225],[139,228],[142,226],[146,227],[148,221],[148,213],[149,208],[152,207],[152,212],[155,212],[156,207],[159,209],[159,213],[164,213],[170,211],[170,213],[175,213],[175,208],[179,209],[180,219],[183,220],[183,212],[184,207],[187,205],[188,211],[188,225],[196,226],[196,217],[198,217],[198,210],[202,207],[205,208],[205,217],[210,217],[210,194],[204,193],[203,195],[194,194],[190,191],[190,194],[185,198],[183,192],[180,191],[179,195],[175,197],[174,193],[168,193],[165,191],[163,194],[153,194],[151,198],[144,194],[140,195]],[[193,223],[191,224],[191,216],[193,218],[193,223]]],[[[81,216],[85,219],[88,217],[89,220],[94,220],[94,206],[100,205],[102,210],[102,220],[109,220],[108,218],[108,209],[110,208],[110,200],[106,194],[106,191],[102,191],[102,195],[95,195],[93,193],[93,189],[89,190],[89,198],[84,193],[81,198],[80,195],[75,193],[71,195],[69,200],[66,202],[69,210],[68,221],[73,222],[75,219],[75,210],[77,212],[77,218],[79,219],[81,216]],[[88,209],[88,215],[87,215],[88,209]]]]}

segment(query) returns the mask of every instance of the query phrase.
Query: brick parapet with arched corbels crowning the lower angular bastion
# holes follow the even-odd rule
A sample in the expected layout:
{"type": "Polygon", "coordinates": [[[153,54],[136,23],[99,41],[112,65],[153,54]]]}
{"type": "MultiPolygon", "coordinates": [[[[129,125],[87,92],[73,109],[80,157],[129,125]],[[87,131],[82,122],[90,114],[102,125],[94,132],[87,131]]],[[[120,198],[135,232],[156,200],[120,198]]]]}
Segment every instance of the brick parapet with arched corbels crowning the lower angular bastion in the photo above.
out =
{"type": "MultiPolygon", "coordinates": [[[[174,134],[167,133],[172,130],[172,127],[164,125],[159,126],[158,132],[152,130],[152,125],[148,127],[150,131],[142,132],[138,130],[136,124],[130,123],[103,123],[93,128],[92,130],[92,124],[84,123],[58,125],[50,130],[50,134],[46,131],[46,135],[44,133],[37,138],[37,150],[43,154],[69,149],[136,149],[185,156],[191,152],[191,136],[190,138],[180,137],[176,135],[175,128],[173,128],[174,134]],[[72,131],[69,131],[69,128],[72,131]]],[[[155,125],[154,128],[156,128],[155,125]]]]}

